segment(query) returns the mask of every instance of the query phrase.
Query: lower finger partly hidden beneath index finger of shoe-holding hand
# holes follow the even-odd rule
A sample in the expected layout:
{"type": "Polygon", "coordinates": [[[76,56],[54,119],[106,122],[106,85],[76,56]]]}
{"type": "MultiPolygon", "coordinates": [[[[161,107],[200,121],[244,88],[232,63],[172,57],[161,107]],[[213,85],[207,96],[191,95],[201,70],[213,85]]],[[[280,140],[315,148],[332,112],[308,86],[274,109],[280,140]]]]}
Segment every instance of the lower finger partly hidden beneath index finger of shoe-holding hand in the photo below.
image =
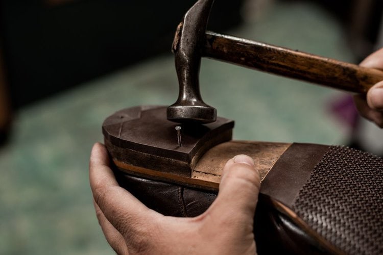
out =
{"type": "Polygon", "coordinates": [[[106,241],[108,241],[110,247],[117,254],[129,254],[128,247],[126,246],[125,239],[119,233],[114,226],[105,218],[104,213],[101,211],[100,207],[93,200],[94,210],[96,212],[97,219],[104,233],[106,241]]]}

